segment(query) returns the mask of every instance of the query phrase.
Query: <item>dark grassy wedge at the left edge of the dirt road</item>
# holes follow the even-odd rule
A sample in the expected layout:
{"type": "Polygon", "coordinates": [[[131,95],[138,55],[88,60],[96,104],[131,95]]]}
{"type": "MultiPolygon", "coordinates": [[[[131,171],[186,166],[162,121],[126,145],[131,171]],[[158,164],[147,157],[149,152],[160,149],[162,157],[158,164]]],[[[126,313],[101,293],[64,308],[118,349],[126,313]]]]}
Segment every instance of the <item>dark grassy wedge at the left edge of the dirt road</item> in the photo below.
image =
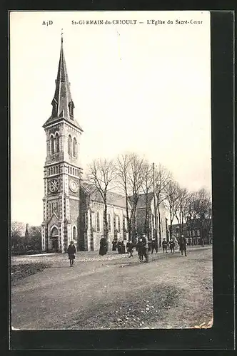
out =
{"type": "Polygon", "coordinates": [[[11,266],[11,284],[14,286],[17,281],[31,276],[32,274],[44,271],[50,265],[46,263],[25,263],[11,266]]]}

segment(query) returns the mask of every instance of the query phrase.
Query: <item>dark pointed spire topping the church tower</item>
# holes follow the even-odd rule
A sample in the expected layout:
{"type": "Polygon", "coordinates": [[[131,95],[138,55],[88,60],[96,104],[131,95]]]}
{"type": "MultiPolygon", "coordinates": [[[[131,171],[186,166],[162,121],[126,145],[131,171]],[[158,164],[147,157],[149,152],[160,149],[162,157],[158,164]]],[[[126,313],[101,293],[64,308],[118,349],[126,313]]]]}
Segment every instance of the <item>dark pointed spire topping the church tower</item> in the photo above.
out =
{"type": "Polygon", "coordinates": [[[51,117],[64,117],[66,120],[74,120],[74,103],[71,99],[70,83],[66,70],[63,45],[63,30],[61,30],[61,51],[54,99],[51,103],[53,105],[51,117]]]}

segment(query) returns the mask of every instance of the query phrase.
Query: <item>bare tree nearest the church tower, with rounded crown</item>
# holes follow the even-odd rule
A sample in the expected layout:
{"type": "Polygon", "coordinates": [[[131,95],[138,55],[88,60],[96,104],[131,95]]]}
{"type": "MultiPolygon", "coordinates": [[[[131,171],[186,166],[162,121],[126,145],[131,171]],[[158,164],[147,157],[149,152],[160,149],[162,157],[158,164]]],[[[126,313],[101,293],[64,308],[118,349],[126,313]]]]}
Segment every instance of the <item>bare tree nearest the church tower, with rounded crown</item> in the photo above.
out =
{"type": "Polygon", "coordinates": [[[89,164],[87,180],[96,187],[104,203],[104,236],[108,239],[107,193],[113,189],[116,169],[113,161],[95,159],[89,164]]]}

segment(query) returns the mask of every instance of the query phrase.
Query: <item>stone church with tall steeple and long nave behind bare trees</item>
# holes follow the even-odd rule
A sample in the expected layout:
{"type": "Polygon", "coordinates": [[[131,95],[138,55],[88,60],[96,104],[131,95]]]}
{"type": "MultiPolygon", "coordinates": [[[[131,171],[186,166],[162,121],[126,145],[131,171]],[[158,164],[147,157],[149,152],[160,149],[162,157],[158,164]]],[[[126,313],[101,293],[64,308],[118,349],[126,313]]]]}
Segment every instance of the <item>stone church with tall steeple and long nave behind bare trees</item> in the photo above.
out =
{"type": "MultiPolygon", "coordinates": [[[[99,192],[82,179],[80,138],[83,133],[74,117],[74,102],[66,69],[63,38],[56,77],[51,116],[44,123],[46,160],[44,164],[42,251],[66,253],[70,241],[77,251],[99,250],[104,233],[104,204],[99,192]]],[[[141,199],[142,200],[142,199],[141,199]]],[[[154,237],[153,199],[149,200],[149,238],[154,237]]],[[[141,204],[140,204],[141,205],[141,204]]],[[[139,206],[138,230],[143,233],[143,206],[139,206]]],[[[129,211],[130,209],[128,209],[129,211]]],[[[166,238],[165,210],[161,209],[162,238],[166,238]]],[[[126,200],[121,194],[108,196],[109,250],[111,243],[123,240],[126,244],[126,200]]]]}

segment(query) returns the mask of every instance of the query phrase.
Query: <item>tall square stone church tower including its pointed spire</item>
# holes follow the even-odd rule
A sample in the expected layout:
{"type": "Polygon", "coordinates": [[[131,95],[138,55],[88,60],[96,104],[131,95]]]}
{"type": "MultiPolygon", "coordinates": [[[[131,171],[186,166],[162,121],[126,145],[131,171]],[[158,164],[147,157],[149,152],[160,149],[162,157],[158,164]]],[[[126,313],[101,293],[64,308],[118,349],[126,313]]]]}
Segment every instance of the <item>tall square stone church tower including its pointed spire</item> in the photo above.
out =
{"type": "Polygon", "coordinates": [[[44,221],[42,251],[66,252],[71,240],[79,241],[79,143],[83,130],[74,118],[63,37],[52,112],[43,125],[46,133],[44,164],[44,221]]]}

